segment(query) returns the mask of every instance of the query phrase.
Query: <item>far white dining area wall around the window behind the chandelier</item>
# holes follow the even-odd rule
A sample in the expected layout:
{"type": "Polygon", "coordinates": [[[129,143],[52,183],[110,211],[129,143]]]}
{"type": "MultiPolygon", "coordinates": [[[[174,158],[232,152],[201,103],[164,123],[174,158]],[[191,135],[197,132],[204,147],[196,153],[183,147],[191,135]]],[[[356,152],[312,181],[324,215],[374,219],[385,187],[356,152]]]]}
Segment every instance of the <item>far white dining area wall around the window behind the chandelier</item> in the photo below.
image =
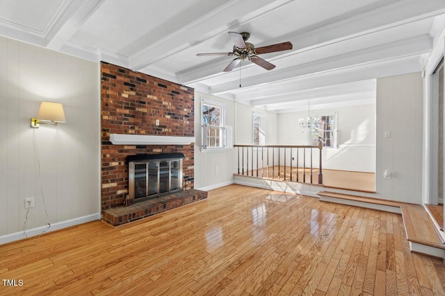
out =
{"type": "MultiPolygon", "coordinates": [[[[334,112],[337,112],[338,117],[339,148],[323,149],[323,168],[375,172],[375,104],[316,110],[311,113],[318,116],[334,112]]],[[[280,145],[309,145],[307,128],[300,128],[298,125],[300,118],[307,118],[307,112],[278,114],[277,134],[280,145]]],[[[314,157],[314,166],[318,166],[318,157],[314,157]]]]}

